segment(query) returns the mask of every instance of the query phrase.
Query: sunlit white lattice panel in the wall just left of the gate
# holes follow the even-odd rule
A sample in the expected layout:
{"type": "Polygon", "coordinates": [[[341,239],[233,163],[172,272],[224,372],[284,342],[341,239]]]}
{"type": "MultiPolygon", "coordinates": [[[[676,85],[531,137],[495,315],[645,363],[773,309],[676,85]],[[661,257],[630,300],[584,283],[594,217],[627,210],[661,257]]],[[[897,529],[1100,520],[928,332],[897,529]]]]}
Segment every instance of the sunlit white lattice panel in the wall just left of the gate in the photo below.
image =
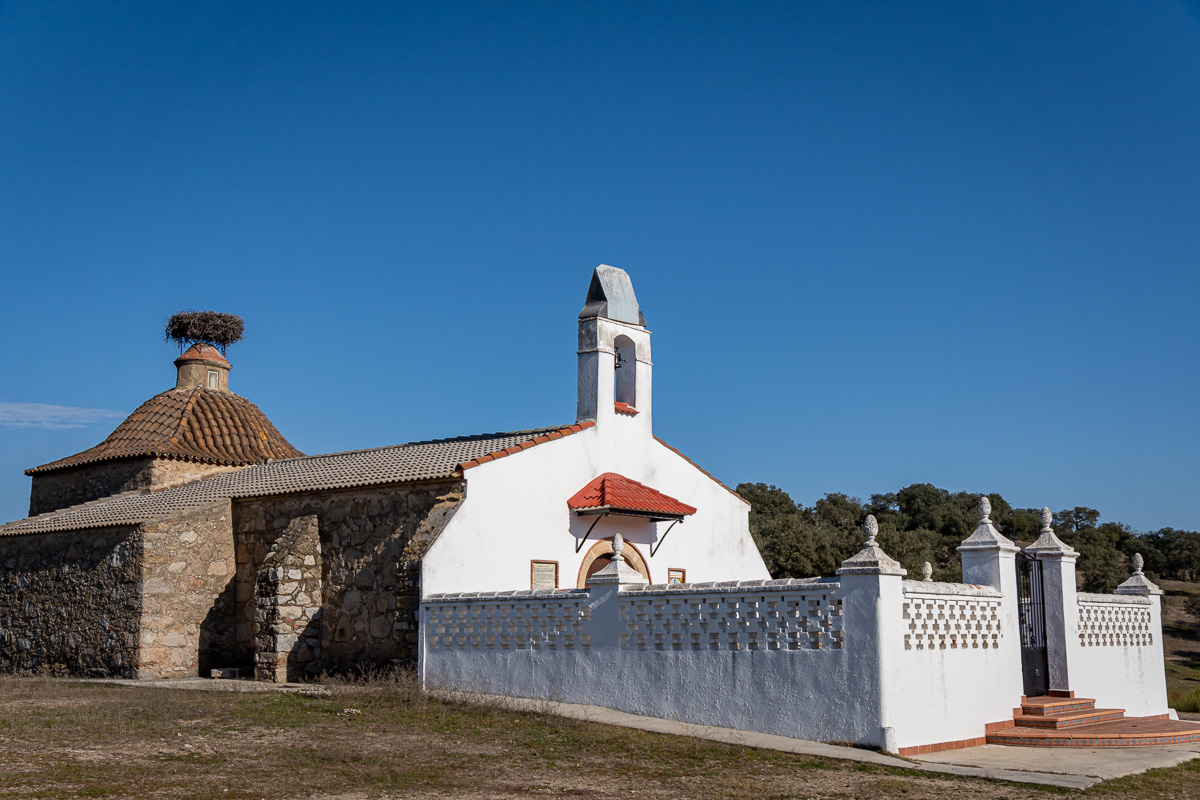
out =
{"type": "Polygon", "coordinates": [[[905,591],[905,650],[998,648],[1000,599],[905,591]]]}

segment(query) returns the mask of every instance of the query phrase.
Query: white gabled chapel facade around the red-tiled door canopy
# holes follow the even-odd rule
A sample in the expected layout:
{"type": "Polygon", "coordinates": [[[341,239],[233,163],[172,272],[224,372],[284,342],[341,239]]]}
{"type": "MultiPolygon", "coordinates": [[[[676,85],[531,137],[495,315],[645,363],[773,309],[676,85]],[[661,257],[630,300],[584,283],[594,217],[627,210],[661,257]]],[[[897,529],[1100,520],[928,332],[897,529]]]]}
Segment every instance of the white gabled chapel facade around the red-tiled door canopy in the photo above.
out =
{"type": "Polygon", "coordinates": [[[466,500],[421,561],[424,596],[527,590],[534,559],[558,561],[559,588],[575,588],[588,548],[617,533],[646,559],[655,583],[666,583],[670,567],[686,570],[689,583],[770,577],[750,537],[750,506],[649,435],[636,417],[611,416],[464,476],[466,500]],[[661,542],[671,523],[605,518],[576,553],[595,518],[571,513],[566,500],[604,473],[641,481],[697,511],[661,542]]]}

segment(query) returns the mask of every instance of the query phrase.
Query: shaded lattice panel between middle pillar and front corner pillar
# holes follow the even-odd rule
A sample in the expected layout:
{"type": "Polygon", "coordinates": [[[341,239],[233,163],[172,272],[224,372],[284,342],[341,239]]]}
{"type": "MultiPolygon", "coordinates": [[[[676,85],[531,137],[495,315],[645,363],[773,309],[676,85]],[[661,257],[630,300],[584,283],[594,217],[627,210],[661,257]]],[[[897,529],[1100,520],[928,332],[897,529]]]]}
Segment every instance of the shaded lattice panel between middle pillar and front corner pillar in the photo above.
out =
{"type": "Polygon", "coordinates": [[[840,650],[841,600],[805,593],[662,593],[622,599],[622,650],[840,650]]]}

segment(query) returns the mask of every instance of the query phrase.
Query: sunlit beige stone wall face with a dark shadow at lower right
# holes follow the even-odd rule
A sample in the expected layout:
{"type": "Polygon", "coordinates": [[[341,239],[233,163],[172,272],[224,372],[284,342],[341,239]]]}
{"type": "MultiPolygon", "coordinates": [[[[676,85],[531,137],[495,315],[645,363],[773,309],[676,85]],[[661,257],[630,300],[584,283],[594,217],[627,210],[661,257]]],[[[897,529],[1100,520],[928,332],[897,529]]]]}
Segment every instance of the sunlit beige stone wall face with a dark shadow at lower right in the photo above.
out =
{"type": "Polygon", "coordinates": [[[139,678],[194,678],[234,666],[229,500],[144,525],[139,678]]]}

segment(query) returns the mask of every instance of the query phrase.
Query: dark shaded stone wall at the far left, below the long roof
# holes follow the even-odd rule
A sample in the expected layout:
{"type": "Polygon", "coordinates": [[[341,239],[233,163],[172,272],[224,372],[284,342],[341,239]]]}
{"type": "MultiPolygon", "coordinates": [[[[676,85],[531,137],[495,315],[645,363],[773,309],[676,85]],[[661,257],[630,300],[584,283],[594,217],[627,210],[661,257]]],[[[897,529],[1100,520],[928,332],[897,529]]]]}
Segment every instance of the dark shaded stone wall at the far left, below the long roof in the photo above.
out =
{"type": "Polygon", "coordinates": [[[0,672],[136,674],[136,528],[0,537],[0,672]]]}

